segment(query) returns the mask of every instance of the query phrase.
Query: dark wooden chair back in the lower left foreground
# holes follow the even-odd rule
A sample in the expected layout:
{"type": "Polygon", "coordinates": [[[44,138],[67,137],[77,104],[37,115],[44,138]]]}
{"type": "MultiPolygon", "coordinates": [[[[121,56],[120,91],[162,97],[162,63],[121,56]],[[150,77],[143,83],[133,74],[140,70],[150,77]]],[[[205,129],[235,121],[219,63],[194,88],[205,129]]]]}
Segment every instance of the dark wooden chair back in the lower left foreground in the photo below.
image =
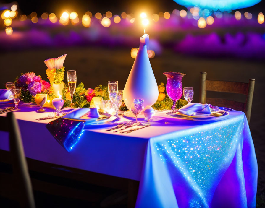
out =
{"type": "Polygon", "coordinates": [[[17,181],[17,191],[20,207],[35,208],[33,190],[25,158],[20,129],[13,112],[7,113],[7,117],[0,116],[1,131],[9,132],[9,149],[12,157],[14,181],[17,181]]]}

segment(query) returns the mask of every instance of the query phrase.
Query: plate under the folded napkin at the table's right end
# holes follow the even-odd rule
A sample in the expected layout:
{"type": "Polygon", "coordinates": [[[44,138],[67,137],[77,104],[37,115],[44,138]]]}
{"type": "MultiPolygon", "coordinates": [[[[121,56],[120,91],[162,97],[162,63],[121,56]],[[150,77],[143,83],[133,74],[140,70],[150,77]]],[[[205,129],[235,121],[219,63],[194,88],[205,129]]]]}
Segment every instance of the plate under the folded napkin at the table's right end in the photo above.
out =
{"type": "Polygon", "coordinates": [[[224,120],[228,117],[229,113],[228,111],[225,111],[222,116],[187,116],[184,114],[179,113],[178,111],[176,113],[167,113],[167,115],[175,117],[175,118],[181,118],[181,119],[187,119],[192,121],[216,121],[216,120],[224,120]]]}

